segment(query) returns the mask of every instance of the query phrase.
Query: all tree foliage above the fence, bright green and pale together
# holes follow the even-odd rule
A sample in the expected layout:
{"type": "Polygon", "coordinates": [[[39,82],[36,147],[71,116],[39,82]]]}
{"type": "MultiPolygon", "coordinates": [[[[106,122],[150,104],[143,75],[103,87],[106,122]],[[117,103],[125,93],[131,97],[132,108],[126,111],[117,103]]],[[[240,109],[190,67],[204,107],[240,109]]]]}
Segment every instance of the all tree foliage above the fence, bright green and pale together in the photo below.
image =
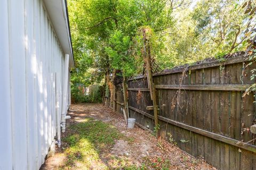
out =
{"type": "Polygon", "coordinates": [[[255,0],[201,0],[188,8],[190,3],[69,0],[73,84],[103,84],[114,70],[126,77],[142,73],[145,28],[151,56],[164,69],[247,49],[255,34],[255,0]]]}

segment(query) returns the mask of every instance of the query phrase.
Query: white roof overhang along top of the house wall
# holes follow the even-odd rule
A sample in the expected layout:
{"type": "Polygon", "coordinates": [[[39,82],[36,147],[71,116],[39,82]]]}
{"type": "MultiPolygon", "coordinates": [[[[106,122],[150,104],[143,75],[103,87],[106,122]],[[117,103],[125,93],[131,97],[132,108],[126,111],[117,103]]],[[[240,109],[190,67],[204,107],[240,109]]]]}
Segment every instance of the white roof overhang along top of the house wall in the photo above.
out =
{"type": "Polygon", "coordinates": [[[69,29],[68,8],[66,0],[44,0],[46,10],[53,28],[65,54],[69,54],[69,67],[75,67],[73,47],[69,29]]]}

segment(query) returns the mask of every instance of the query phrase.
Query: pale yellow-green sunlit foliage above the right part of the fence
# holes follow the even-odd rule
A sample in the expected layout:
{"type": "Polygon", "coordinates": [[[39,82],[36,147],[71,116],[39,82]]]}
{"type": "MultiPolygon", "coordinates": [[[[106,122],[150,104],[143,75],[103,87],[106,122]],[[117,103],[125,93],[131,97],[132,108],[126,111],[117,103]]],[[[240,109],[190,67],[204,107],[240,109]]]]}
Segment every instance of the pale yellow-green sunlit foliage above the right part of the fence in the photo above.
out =
{"type": "MultiPolygon", "coordinates": [[[[166,61],[169,66],[194,63],[206,57],[222,57],[245,50],[241,41],[247,21],[242,5],[246,0],[202,0],[175,17],[175,27],[166,30],[166,61]]],[[[253,25],[253,24],[252,24],[253,25]]]]}

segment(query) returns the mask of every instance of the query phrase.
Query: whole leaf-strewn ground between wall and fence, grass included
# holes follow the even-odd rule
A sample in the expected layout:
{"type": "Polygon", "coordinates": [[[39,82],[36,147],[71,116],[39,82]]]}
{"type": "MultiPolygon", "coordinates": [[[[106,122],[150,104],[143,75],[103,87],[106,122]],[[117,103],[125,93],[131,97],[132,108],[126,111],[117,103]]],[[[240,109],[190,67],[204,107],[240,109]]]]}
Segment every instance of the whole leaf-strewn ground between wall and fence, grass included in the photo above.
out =
{"type": "MultiPolygon", "coordinates": [[[[67,131],[62,135],[62,138],[64,139],[62,140],[62,147],[56,152],[54,157],[50,157],[45,161],[45,164],[41,167],[42,170],[215,169],[214,167],[206,164],[203,160],[189,156],[177,146],[166,142],[165,140],[155,138],[154,135],[142,130],[138,126],[135,126],[132,130],[127,130],[125,128],[122,115],[119,113],[113,113],[110,108],[102,107],[101,104],[72,105],[69,115],[71,116],[71,119],[67,121],[67,131]],[[74,154],[71,154],[73,152],[70,148],[73,146],[73,143],[78,140],[78,137],[76,138],[75,136],[75,133],[77,133],[76,130],[79,128],[77,125],[83,122],[87,122],[87,124],[83,126],[83,129],[88,128],[90,123],[92,124],[95,122],[99,123],[96,123],[95,125],[93,124],[93,130],[95,128],[97,129],[98,125],[103,128],[99,129],[99,131],[114,128],[113,130],[103,132],[109,133],[113,139],[111,138],[108,141],[102,141],[106,140],[109,135],[108,137],[103,137],[105,139],[97,139],[98,143],[92,139],[94,142],[92,142],[92,146],[94,146],[92,150],[87,152],[77,152],[76,150],[76,154],[74,156],[74,154]],[[72,142],[70,142],[70,139],[73,139],[71,137],[75,137],[77,140],[72,140],[72,142]],[[111,142],[111,140],[114,142],[111,142]],[[96,155],[98,154],[97,157],[94,157],[95,154],[91,155],[94,150],[96,150],[96,155]],[[81,158],[81,153],[84,155],[83,158],[81,158]]],[[[83,134],[85,135],[85,139],[91,139],[89,134],[86,133],[87,131],[83,134]]],[[[97,134],[95,135],[92,133],[95,137],[104,135],[97,131],[95,131],[95,133],[97,134]]],[[[79,140],[81,139],[82,138],[79,138],[79,140]]],[[[82,150],[81,144],[79,145],[78,151],[82,150]]],[[[89,143],[85,146],[87,148],[90,145],[91,144],[89,143]]]]}

